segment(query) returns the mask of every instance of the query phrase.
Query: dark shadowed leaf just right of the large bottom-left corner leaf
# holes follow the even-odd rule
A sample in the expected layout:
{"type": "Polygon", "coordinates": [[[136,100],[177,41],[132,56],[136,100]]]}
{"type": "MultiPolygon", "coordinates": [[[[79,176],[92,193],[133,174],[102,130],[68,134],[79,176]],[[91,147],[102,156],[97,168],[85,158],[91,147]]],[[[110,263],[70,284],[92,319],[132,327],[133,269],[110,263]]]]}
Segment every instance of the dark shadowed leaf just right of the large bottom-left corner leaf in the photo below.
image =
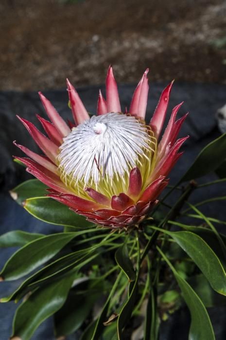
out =
{"type": "Polygon", "coordinates": [[[73,283],[68,298],[62,308],[54,315],[56,337],[75,332],[86,320],[96,300],[103,294],[104,282],[78,279],[73,283]],[[82,282],[81,282],[82,281],[82,282]]]}

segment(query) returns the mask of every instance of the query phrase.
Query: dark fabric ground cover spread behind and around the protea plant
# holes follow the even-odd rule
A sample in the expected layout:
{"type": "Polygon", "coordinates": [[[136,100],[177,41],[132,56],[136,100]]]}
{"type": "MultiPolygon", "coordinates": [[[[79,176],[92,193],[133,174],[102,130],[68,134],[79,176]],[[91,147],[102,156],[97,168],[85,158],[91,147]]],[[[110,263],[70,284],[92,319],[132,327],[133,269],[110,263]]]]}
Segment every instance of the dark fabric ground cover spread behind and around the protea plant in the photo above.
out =
{"type": "MultiPolygon", "coordinates": [[[[165,83],[151,84],[149,102],[147,107],[147,121],[154,112],[161,90],[165,83]]],[[[104,88],[104,87],[103,87],[104,88]]],[[[122,108],[128,106],[135,85],[120,86],[122,108]]],[[[98,97],[98,87],[89,86],[78,90],[87,110],[95,113],[98,97]]],[[[68,108],[66,90],[46,91],[44,94],[52,101],[58,112],[65,118],[71,119],[68,108]]],[[[181,176],[192,163],[199,151],[211,140],[220,136],[214,118],[216,110],[226,102],[226,85],[217,84],[175,84],[172,90],[170,109],[179,102],[185,101],[178,114],[181,117],[187,111],[190,112],[181,136],[190,135],[190,139],[183,147],[185,151],[175,169],[171,173],[171,183],[181,176]]],[[[170,110],[169,110],[170,112],[170,110]]],[[[16,114],[28,119],[39,126],[35,114],[41,114],[46,118],[38,95],[34,92],[0,92],[0,234],[10,230],[21,229],[29,232],[41,232],[50,234],[61,231],[62,228],[36,220],[23,208],[18,206],[10,197],[8,190],[18,183],[31,178],[24,168],[17,166],[12,161],[12,154],[20,155],[20,151],[12,144],[17,140],[19,144],[28,146],[38,151],[35,143],[15,117],[16,114]]],[[[211,161],[211,160],[210,160],[211,161]]],[[[217,178],[214,174],[205,178],[211,181],[217,178]]],[[[199,180],[199,183],[204,179],[199,180]]],[[[191,196],[192,202],[199,202],[208,197],[223,196],[226,194],[226,185],[208,187],[207,190],[199,190],[195,196],[191,196]],[[207,197],[208,196],[208,197],[207,197]]],[[[203,206],[202,211],[208,216],[218,219],[226,219],[226,204],[224,201],[203,206]]],[[[218,230],[224,232],[223,226],[218,230]]],[[[1,250],[0,265],[3,266],[15,249],[1,250]]],[[[6,296],[18,286],[18,282],[3,282],[0,284],[0,296],[6,296]]],[[[11,323],[17,305],[13,302],[0,304],[0,340],[7,340],[11,334],[11,323]]],[[[210,317],[217,340],[226,339],[226,307],[211,308],[210,317]]],[[[189,329],[189,312],[186,308],[177,311],[169,320],[161,325],[160,340],[185,340],[189,329]]],[[[33,340],[52,340],[53,323],[50,318],[44,322],[35,332],[33,340]]],[[[68,339],[76,339],[71,336],[68,339]]]]}

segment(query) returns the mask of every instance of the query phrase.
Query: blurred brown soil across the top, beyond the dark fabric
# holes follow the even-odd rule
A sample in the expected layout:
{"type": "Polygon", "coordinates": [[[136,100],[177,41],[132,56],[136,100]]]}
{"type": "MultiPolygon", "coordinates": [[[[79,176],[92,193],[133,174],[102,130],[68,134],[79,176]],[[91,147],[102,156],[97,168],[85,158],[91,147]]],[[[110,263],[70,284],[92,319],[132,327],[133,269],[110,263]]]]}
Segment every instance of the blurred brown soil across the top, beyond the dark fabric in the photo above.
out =
{"type": "Polygon", "coordinates": [[[109,64],[121,83],[226,82],[225,0],[1,0],[0,18],[1,90],[100,84],[109,64]]]}

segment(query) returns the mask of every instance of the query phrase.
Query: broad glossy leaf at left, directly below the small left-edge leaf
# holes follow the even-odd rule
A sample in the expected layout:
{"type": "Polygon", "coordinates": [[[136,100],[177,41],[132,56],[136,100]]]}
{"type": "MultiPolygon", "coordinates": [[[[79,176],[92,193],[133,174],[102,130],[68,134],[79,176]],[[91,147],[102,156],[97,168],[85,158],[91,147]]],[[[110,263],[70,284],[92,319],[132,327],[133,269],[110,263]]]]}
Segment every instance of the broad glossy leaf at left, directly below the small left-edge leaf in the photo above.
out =
{"type": "Polygon", "coordinates": [[[77,233],[58,233],[26,244],[14,253],[0,272],[4,280],[16,280],[47,262],[56,255],[77,233]]]}

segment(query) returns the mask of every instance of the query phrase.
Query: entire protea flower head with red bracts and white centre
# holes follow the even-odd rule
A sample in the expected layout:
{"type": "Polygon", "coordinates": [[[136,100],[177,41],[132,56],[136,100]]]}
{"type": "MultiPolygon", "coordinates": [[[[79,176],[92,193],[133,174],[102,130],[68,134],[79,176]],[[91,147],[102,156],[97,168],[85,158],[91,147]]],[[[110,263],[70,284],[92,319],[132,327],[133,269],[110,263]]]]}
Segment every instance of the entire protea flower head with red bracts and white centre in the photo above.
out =
{"type": "Polygon", "coordinates": [[[149,124],[145,123],[148,69],[144,72],[128,112],[122,113],[117,84],[110,67],[106,100],[101,91],[97,115],[89,114],[76,90],[67,81],[74,123],[70,127],[39,92],[50,121],[39,116],[47,135],[19,118],[44,155],[17,145],[27,156],[16,157],[49,189],[49,197],[70,207],[89,221],[109,228],[138,225],[157,203],[168,184],[167,176],[181,156],[188,138],[176,140],[186,118],[176,119],[181,104],[174,107],[158,142],[166,117],[173,82],[162,92],[149,124]]]}

